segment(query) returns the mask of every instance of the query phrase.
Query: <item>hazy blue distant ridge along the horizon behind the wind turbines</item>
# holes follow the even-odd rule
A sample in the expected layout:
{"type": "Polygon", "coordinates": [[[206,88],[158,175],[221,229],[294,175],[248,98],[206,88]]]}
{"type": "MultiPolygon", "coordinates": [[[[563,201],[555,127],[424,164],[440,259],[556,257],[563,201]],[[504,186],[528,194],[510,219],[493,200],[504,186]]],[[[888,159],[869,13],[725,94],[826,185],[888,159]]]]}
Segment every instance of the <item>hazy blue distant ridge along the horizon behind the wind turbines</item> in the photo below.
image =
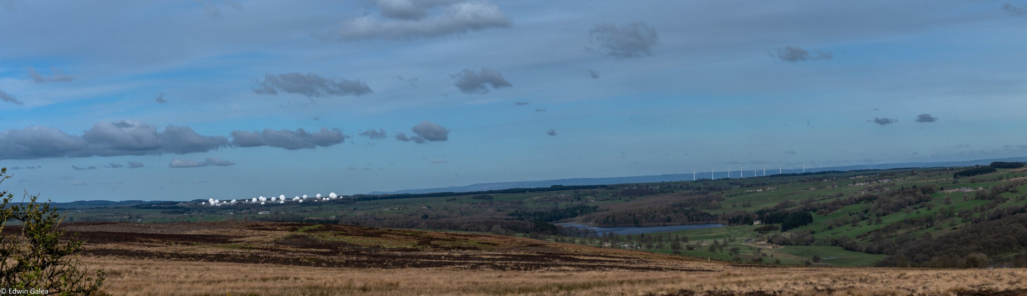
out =
{"type": "MultiPolygon", "coordinates": [[[[1004,159],[990,159],[990,160],[974,160],[974,161],[953,161],[953,162],[922,162],[922,163],[897,163],[897,164],[877,164],[877,165],[854,165],[854,166],[842,166],[842,167],[826,167],[826,168],[806,168],[806,172],[820,172],[820,171],[851,171],[851,170],[884,170],[884,169],[895,169],[895,168],[936,168],[936,167],[969,167],[975,165],[987,165],[992,162],[1027,162],[1027,157],[1017,157],[1017,158],[1004,158],[1004,159]]],[[[776,173],[777,169],[774,168],[770,170],[767,167],[767,175],[776,173]]],[[[762,170],[761,170],[762,172],[762,170]]],[[[800,173],[802,169],[791,169],[782,170],[782,173],[800,173]]],[[[737,175],[737,171],[732,172],[733,176],[737,175]]],[[[698,178],[710,178],[710,172],[696,172],[698,178]]],[[[726,177],[725,172],[715,172],[715,178],[726,177]]],[[[372,192],[368,195],[396,195],[396,194],[433,194],[433,193],[464,193],[464,192],[483,192],[483,191],[497,191],[497,189],[508,189],[508,188],[533,188],[533,187],[548,187],[551,185],[608,185],[608,184],[620,184],[620,183],[651,183],[651,182],[663,182],[663,181],[685,181],[691,180],[692,174],[665,174],[665,175],[647,175],[647,176],[629,176],[629,177],[606,177],[606,178],[569,178],[569,179],[554,179],[554,180],[536,180],[536,181],[516,181],[516,182],[495,182],[495,183],[477,183],[463,186],[449,186],[449,187],[438,187],[438,188],[421,188],[421,189],[404,189],[395,192],[372,192]]]]}

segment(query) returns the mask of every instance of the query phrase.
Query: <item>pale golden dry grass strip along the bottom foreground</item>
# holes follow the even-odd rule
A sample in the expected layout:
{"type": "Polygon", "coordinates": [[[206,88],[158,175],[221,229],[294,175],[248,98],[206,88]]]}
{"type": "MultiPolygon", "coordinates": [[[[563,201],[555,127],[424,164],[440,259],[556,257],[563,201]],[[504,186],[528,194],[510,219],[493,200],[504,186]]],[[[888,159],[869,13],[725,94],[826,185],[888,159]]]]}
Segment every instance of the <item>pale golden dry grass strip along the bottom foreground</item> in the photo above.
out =
{"type": "Polygon", "coordinates": [[[722,271],[568,272],[328,268],[110,257],[88,257],[83,262],[110,273],[106,292],[114,295],[674,295],[680,289],[776,291],[782,295],[956,295],[1027,287],[1027,270],[1012,268],[725,265],[722,271]]]}

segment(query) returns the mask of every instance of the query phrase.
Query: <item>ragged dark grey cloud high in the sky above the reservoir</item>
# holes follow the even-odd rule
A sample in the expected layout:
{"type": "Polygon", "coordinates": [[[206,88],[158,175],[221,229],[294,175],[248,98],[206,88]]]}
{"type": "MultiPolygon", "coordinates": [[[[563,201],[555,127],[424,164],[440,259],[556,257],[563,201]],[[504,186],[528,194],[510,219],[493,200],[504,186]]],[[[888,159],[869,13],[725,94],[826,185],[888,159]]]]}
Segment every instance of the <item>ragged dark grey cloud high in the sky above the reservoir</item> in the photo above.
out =
{"type": "Polygon", "coordinates": [[[656,29],[642,22],[623,26],[597,24],[588,30],[588,39],[602,47],[603,53],[616,58],[652,55],[652,47],[659,45],[656,29]]]}

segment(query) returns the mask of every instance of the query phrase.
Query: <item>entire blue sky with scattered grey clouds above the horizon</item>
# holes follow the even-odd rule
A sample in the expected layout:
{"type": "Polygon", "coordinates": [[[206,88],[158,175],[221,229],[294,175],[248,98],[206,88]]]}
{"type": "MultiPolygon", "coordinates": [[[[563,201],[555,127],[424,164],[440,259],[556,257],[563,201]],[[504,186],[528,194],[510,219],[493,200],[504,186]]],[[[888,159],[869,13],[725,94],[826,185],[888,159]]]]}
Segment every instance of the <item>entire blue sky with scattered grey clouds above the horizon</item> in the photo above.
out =
{"type": "Polygon", "coordinates": [[[1013,0],[0,0],[0,187],[227,200],[1022,157],[1025,35],[1013,0]]]}

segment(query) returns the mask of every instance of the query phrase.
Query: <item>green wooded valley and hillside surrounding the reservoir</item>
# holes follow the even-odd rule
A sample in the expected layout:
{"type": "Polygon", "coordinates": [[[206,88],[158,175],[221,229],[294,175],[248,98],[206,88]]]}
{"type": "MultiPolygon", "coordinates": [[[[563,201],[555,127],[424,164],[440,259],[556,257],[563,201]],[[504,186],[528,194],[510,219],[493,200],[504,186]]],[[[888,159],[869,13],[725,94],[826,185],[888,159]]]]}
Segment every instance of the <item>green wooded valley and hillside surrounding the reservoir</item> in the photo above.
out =
{"type": "MultiPolygon", "coordinates": [[[[66,213],[69,220],[76,221],[273,220],[490,232],[602,248],[627,245],[631,249],[656,253],[764,264],[869,266],[893,262],[881,259],[897,254],[911,242],[946,236],[1024,211],[1027,206],[1024,168],[999,168],[953,178],[962,170],[822,172],[521,188],[464,196],[356,196],[327,202],[239,203],[219,207],[166,203],[66,213]],[[260,214],[262,211],[268,214],[260,214]],[[729,226],[645,236],[603,236],[553,224],[563,221],[599,226],[711,222],[729,226]],[[760,228],[767,224],[776,228],[760,228]],[[821,260],[813,260],[814,255],[821,260]]],[[[1022,252],[1020,248],[989,255],[987,264],[1012,264],[1022,252]]],[[[960,262],[957,265],[961,266],[968,254],[945,256],[950,255],[958,258],[941,261],[960,262]]],[[[929,260],[909,258],[906,262],[916,265],[929,260]]]]}

